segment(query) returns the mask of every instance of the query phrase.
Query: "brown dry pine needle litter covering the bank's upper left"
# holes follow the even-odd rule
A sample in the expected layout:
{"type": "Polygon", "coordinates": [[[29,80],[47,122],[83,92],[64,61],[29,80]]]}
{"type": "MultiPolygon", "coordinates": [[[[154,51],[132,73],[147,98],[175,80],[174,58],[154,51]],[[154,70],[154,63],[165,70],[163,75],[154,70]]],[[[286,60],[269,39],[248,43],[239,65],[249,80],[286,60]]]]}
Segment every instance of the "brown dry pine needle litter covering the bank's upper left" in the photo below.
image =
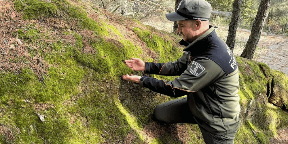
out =
{"type": "MultiPolygon", "coordinates": [[[[19,74],[22,69],[31,69],[41,82],[44,81],[44,75],[47,75],[49,65],[44,59],[41,52],[51,52],[51,48],[41,43],[55,43],[63,39],[65,44],[75,43],[75,37],[71,35],[62,35],[60,30],[76,29],[73,21],[68,24],[65,20],[59,18],[47,18],[45,20],[22,20],[22,14],[16,12],[12,1],[0,1],[0,71],[2,73],[12,72],[19,74]],[[43,35],[38,35],[39,39],[27,44],[23,39],[18,39],[17,31],[27,24],[35,24],[35,29],[43,35]],[[39,29],[40,28],[40,29],[39,29]],[[16,33],[16,35],[15,35],[16,33]],[[50,37],[46,39],[45,37],[50,37]]],[[[23,30],[23,29],[22,29],[23,30]]],[[[71,30],[70,30],[71,31],[71,30]]],[[[25,30],[23,30],[25,32],[25,30]]],[[[80,31],[82,36],[91,36],[91,31],[80,31]]],[[[87,38],[88,39],[88,38],[87,38]]],[[[95,50],[89,46],[87,39],[84,39],[84,53],[94,53],[95,50]]],[[[56,66],[56,64],[52,64],[56,66]]]]}

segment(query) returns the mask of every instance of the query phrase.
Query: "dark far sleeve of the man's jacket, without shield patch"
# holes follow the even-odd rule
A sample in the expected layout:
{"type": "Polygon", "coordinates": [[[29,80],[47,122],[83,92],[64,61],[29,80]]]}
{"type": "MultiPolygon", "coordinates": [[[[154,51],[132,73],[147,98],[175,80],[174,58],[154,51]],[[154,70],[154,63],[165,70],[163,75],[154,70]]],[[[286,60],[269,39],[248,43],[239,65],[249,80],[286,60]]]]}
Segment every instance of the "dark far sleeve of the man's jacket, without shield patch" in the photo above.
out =
{"type": "Polygon", "coordinates": [[[181,75],[187,69],[188,52],[184,52],[182,57],[174,62],[154,63],[145,62],[145,74],[156,75],[181,75]]]}

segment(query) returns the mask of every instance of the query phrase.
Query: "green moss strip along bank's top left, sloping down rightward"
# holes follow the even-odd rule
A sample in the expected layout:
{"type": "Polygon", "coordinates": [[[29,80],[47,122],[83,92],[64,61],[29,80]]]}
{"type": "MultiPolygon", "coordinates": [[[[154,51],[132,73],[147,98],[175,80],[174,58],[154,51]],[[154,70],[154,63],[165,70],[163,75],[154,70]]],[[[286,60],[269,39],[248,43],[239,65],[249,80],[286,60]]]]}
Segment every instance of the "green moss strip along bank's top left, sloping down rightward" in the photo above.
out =
{"type": "Polygon", "coordinates": [[[109,35],[106,27],[99,26],[98,22],[88,17],[86,10],[79,6],[70,5],[67,1],[49,3],[38,0],[19,0],[15,1],[14,5],[18,12],[23,12],[24,19],[59,17],[58,11],[60,11],[68,15],[65,19],[77,20],[80,29],[90,29],[98,35],[109,35]]]}

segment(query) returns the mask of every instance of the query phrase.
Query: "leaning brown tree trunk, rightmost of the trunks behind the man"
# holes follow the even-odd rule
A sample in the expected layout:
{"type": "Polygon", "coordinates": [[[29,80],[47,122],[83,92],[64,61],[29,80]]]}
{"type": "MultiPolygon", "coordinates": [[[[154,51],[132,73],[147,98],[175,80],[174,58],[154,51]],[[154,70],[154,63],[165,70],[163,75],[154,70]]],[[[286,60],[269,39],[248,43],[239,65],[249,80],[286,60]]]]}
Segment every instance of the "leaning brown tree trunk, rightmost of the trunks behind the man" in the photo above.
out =
{"type": "Polygon", "coordinates": [[[261,0],[258,12],[252,25],[251,34],[241,57],[252,59],[263,30],[265,18],[270,7],[270,0],[261,0]]]}

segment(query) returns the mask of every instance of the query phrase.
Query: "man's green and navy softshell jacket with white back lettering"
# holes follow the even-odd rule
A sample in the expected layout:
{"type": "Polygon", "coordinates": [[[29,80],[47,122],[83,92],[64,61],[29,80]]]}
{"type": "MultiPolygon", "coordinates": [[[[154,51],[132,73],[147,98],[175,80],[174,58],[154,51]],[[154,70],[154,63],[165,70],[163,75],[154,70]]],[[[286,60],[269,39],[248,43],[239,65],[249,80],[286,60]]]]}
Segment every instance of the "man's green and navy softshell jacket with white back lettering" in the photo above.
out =
{"type": "Polygon", "coordinates": [[[237,62],[213,27],[186,46],[174,62],[145,62],[145,74],[179,75],[173,81],[144,76],[140,85],[171,97],[187,95],[199,126],[223,135],[239,127],[239,74],[237,62]]]}

